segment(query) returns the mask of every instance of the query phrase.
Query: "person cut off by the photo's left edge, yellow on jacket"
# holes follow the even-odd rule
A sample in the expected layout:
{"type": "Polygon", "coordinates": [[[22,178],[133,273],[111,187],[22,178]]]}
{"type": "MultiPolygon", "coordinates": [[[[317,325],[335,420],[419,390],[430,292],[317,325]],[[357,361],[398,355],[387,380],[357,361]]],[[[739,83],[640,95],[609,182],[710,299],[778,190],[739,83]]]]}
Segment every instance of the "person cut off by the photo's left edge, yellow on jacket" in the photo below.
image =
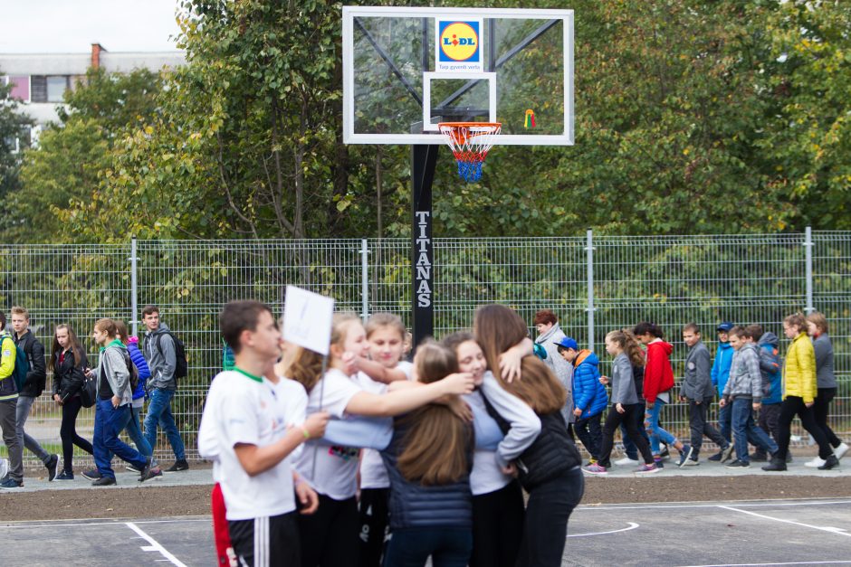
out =
{"type": "Polygon", "coordinates": [[[12,335],[6,333],[6,316],[0,311],[0,430],[9,455],[8,470],[0,478],[0,488],[14,490],[24,487],[24,446],[18,441],[15,406],[18,389],[14,385],[14,358],[17,351],[12,335]]]}

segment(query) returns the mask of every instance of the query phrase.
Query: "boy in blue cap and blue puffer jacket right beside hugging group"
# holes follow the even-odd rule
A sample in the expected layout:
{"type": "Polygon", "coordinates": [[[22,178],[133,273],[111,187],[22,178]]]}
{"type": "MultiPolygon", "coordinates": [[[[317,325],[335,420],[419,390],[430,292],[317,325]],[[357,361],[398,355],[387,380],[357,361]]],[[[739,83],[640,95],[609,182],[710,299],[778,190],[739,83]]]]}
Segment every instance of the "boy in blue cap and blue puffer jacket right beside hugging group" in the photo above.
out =
{"type": "Polygon", "coordinates": [[[573,364],[573,429],[590,454],[590,464],[597,462],[603,442],[600,418],[608,405],[606,386],[600,382],[597,354],[579,349],[575,339],[565,336],[556,345],[561,357],[573,364]]]}

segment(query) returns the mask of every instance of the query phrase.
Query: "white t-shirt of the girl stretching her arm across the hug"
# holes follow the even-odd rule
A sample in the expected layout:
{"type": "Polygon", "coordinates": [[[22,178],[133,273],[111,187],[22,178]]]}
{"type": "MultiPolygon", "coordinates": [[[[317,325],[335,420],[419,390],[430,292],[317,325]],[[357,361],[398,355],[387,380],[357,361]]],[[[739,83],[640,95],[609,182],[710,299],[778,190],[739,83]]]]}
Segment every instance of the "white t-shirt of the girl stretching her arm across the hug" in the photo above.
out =
{"type": "MultiPolygon", "coordinates": [[[[313,386],[308,396],[307,413],[328,411],[331,417],[342,419],[346,415],[346,406],[359,392],[363,389],[356,379],[331,368],[313,386]],[[324,390],[322,383],[325,383],[324,390]]],[[[295,468],[318,493],[334,500],[345,500],[358,492],[359,452],[358,448],[329,447],[313,441],[304,445],[301,455],[294,461],[295,468]]]]}

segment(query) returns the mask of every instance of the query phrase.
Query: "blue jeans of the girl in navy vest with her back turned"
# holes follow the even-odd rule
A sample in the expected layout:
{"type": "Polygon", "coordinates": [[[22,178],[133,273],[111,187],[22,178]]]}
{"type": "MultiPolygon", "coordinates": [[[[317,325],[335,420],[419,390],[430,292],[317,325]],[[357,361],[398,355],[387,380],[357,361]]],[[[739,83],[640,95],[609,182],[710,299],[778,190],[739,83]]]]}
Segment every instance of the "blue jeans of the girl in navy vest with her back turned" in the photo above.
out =
{"type": "Polygon", "coordinates": [[[473,530],[463,527],[408,528],[390,534],[385,567],[466,567],[473,552],[473,530]]]}

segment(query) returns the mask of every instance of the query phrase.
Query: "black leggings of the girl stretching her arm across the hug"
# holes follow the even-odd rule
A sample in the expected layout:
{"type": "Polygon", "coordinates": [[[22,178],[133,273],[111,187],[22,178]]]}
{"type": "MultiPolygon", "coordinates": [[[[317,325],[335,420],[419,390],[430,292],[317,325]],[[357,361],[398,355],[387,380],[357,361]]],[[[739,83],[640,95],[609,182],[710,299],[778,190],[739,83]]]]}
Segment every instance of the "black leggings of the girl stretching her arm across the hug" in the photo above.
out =
{"type": "Polygon", "coordinates": [[[319,509],[299,515],[302,567],[339,567],[358,562],[360,517],[354,496],[334,500],[323,494],[319,509]]]}

